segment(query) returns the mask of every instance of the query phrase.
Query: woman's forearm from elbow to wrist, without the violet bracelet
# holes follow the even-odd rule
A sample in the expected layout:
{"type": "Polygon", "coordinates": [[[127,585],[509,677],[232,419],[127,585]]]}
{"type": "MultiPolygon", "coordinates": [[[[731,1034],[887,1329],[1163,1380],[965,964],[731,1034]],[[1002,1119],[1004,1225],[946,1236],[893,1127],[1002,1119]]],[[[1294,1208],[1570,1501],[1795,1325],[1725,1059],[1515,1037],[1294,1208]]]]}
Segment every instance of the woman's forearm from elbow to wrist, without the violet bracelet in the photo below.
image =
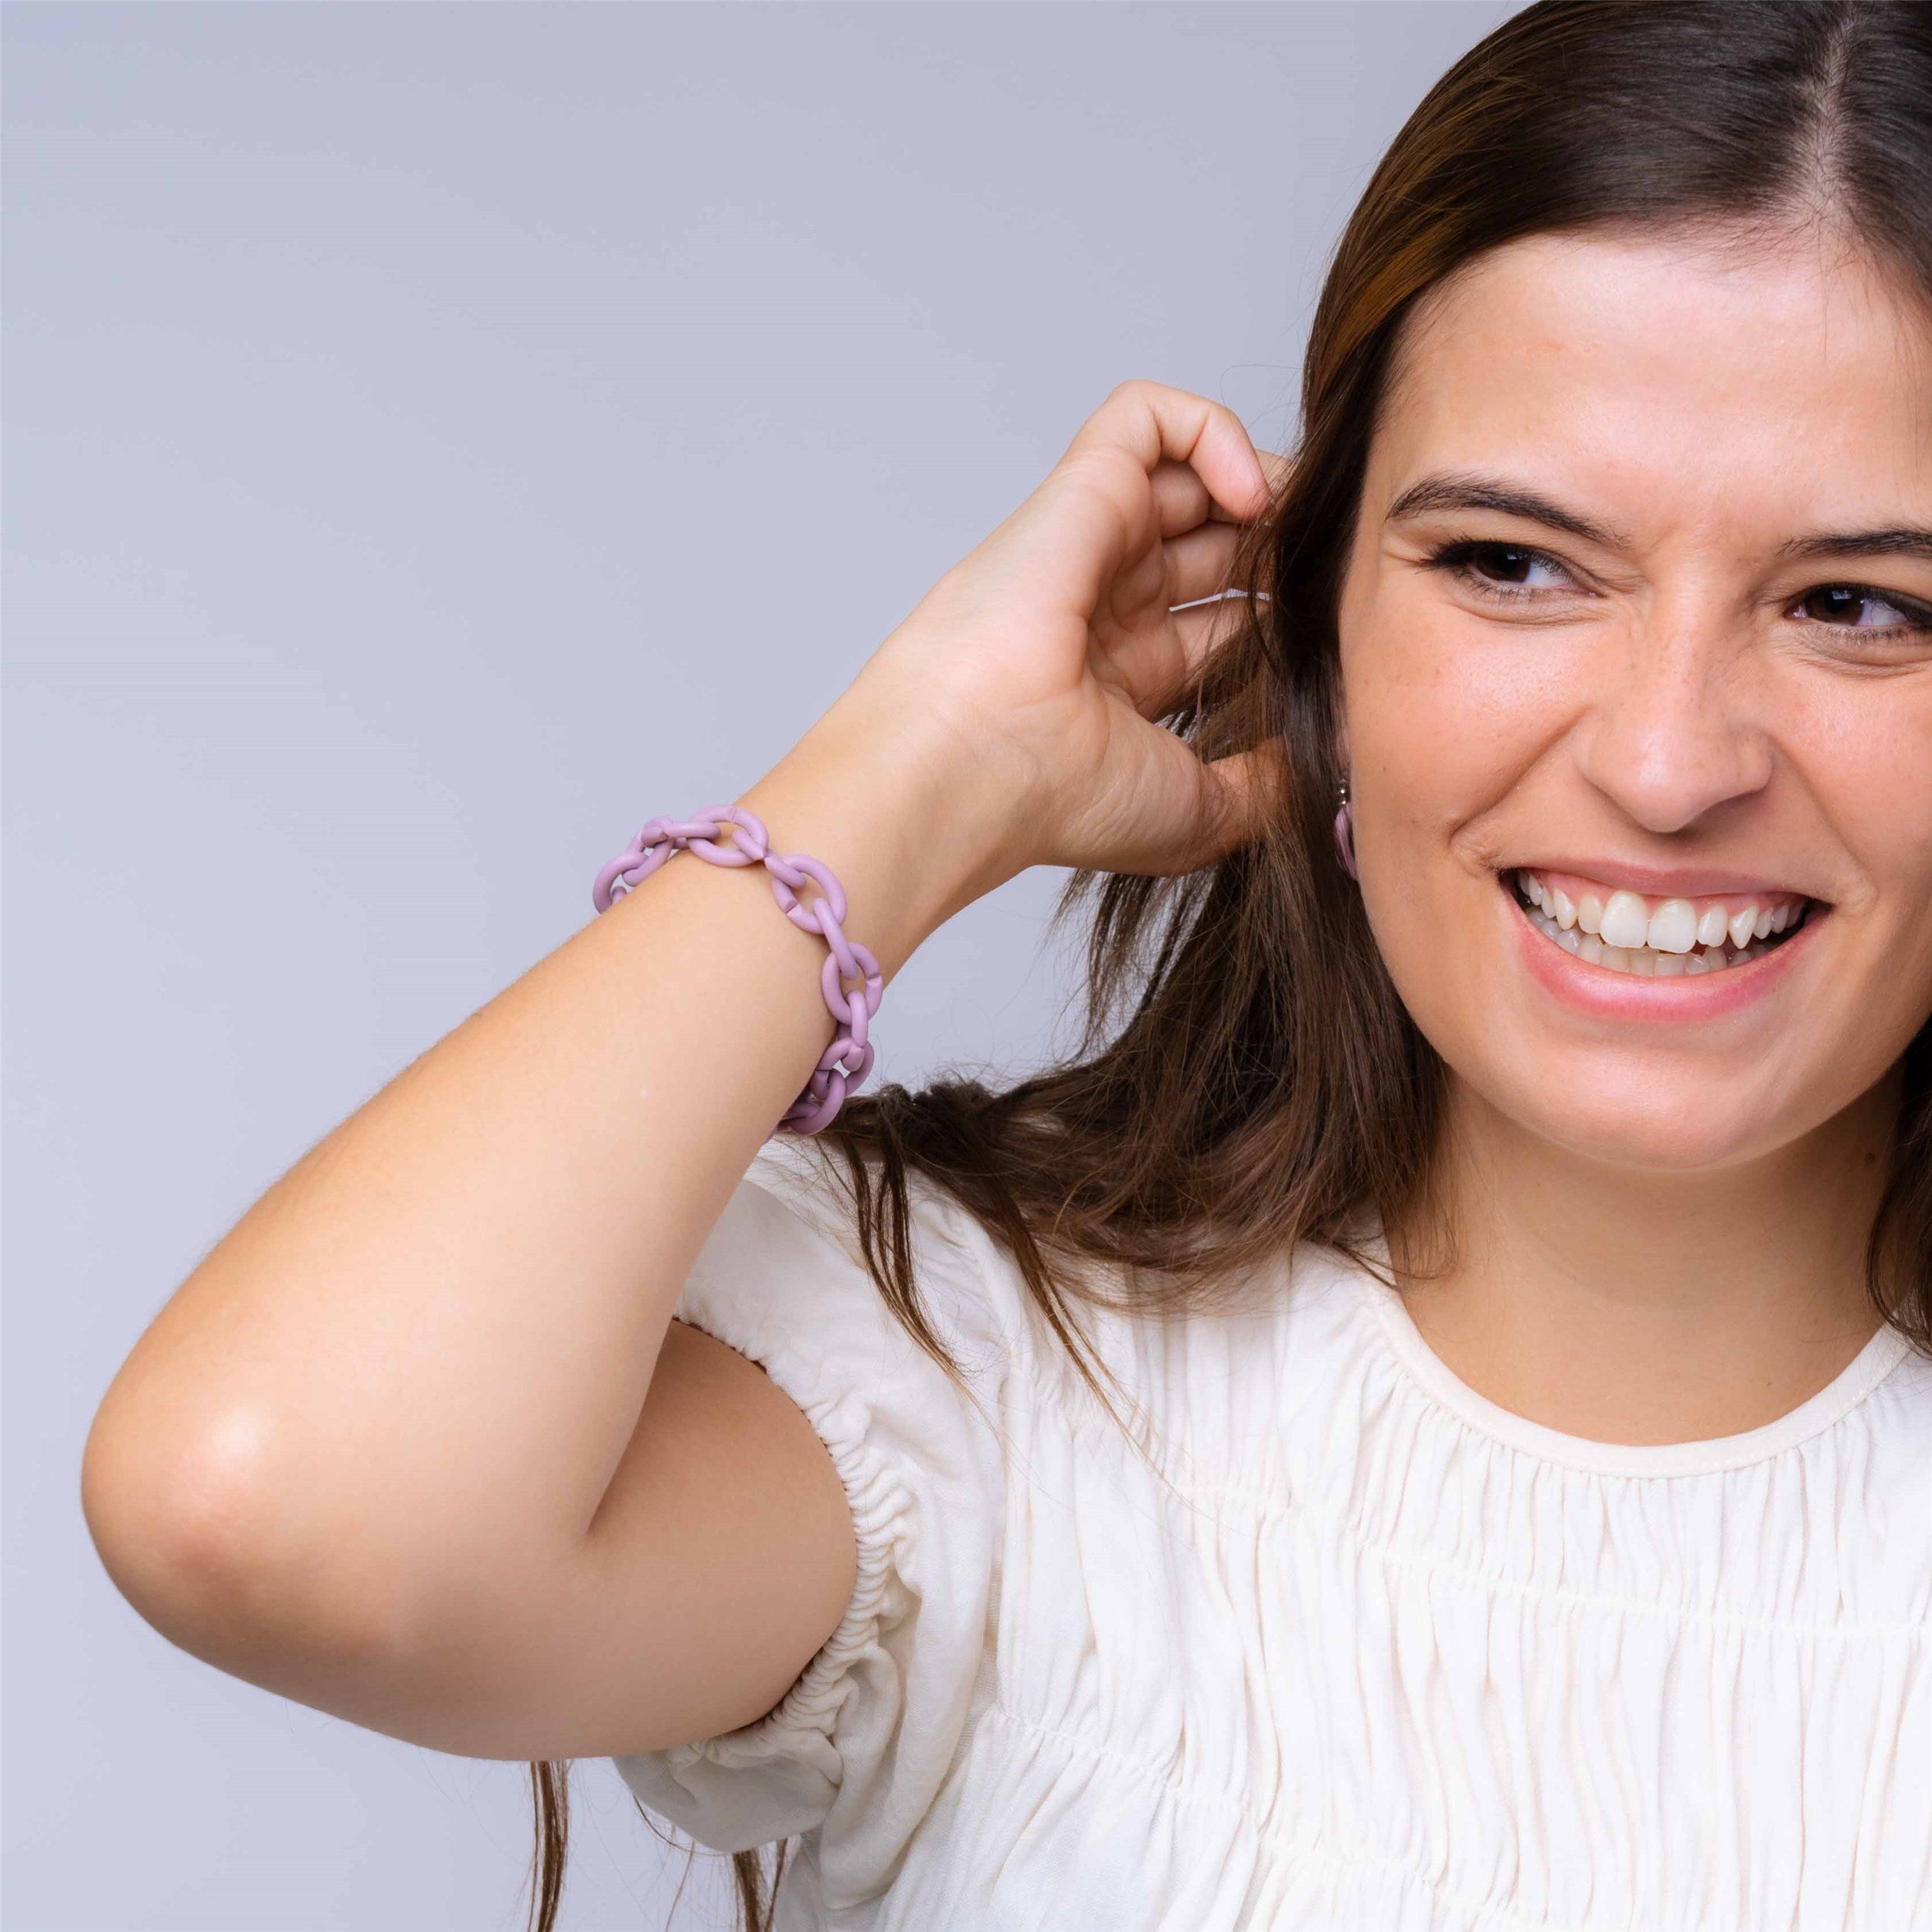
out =
{"type": "MultiPolygon", "coordinates": [[[[833,867],[891,980],[1007,875],[995,788],[951,721],[854,686],[740,802],[833,867]]],[[[197,1617],[284,1613],[379,1646],[580,1544],[690,1264],[831,1039],[823,960],[761,866],[678,854],[276,1180],[95,1422],[89,1522],[137,1607],[191,1648],[197,1617]]]]}

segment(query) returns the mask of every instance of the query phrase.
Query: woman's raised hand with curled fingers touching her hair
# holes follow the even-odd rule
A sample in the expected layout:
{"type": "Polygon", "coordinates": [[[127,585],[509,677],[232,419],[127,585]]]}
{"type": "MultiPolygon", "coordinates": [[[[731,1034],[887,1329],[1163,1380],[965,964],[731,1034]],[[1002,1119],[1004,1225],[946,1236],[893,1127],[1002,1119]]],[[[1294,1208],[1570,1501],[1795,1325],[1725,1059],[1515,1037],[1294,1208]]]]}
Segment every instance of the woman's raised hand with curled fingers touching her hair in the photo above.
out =
{"type": "Polygon", "coordinates": [[[1010,808],[1010,869],[1167,875],[1258,831],[1279,740],[1202,761],[1153,723],[1246,616],[1227,585],[1240,524],[1281,458],[1206,396],[1124,383],[1047,479],[887,638],[835,711],[935,715],[1010,808]]]}

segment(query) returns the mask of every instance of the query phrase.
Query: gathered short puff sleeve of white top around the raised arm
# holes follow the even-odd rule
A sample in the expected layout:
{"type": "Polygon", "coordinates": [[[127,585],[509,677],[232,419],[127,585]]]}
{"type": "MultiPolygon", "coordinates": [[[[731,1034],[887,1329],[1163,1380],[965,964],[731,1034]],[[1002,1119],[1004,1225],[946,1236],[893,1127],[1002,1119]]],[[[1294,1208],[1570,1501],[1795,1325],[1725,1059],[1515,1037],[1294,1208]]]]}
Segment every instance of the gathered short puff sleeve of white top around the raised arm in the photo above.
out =
{"type": "Polygon", "coordinates": [[[891,1882],[960,1743],[997,1590],[1003,1461],[995,1258],[912,1177],[914,1275],[960,1389],[893,1318],[858,1248],[844,1157],[779,1134],[705,1240],[676,1318],[757,1362],[804,1410],[852,1507],[838,1629],[755,1723],[616,1758],[643,1804],[719,1851],[817,1833],[827,1901],[891,1882]]]}

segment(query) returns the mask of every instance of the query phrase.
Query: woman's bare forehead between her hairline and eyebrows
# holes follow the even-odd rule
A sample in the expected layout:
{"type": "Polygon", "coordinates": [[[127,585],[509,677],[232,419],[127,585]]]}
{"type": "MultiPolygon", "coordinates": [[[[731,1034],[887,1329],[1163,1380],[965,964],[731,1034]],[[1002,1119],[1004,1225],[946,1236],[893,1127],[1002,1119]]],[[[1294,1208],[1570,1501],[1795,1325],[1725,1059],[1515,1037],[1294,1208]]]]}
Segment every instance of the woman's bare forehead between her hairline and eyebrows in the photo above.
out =
{"type": "Polygon", "coordinates": [[[1405,325],[1364,508],[1443,469],[1584,493],[1638,535],[1932,524],[1928,311],[1806,230],[1515,242],[1405,325]]]}

